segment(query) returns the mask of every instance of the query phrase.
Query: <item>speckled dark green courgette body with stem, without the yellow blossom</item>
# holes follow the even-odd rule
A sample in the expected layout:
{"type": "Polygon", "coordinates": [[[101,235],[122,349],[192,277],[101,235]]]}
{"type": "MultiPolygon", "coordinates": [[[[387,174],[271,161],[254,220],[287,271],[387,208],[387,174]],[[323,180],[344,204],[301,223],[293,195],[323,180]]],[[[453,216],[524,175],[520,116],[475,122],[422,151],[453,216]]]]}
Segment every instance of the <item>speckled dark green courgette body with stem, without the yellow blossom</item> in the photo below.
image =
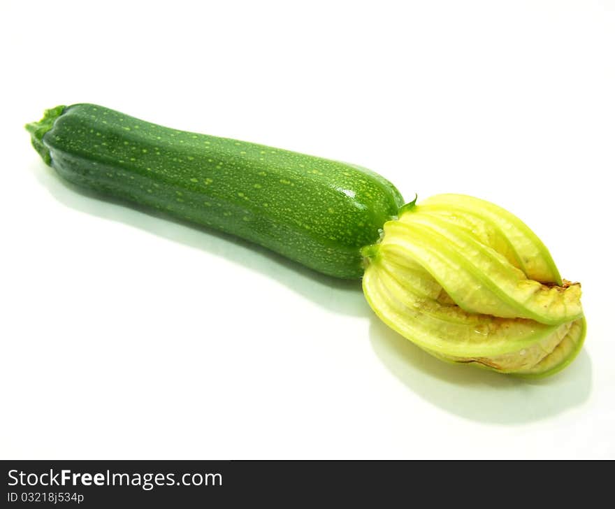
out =
{"type": "Polygon", "coordinates": [[[403,199],[359,166],[168,129],[102,106],[53,108],[27,126],[75,185],[270,248],[316,271],[360,278],[360,250],[403,199]]]}

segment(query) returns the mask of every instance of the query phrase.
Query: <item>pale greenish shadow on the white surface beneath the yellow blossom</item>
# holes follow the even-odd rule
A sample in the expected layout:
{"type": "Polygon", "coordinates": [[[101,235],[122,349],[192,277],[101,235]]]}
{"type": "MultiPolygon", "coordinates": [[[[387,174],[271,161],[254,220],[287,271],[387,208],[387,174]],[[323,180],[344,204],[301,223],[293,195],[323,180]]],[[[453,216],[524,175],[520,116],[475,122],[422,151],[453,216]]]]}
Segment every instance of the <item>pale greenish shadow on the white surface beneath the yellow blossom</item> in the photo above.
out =
{"type": "Polygon", "coordinates": [[[542,380],[523,380],[439,361],[376,316],[370,323],[370,340],[384,366],[408,389],[468,420],[534,422],[580,406],[591,393],[591,360],[585,349],[560,373],[542,380]]]}

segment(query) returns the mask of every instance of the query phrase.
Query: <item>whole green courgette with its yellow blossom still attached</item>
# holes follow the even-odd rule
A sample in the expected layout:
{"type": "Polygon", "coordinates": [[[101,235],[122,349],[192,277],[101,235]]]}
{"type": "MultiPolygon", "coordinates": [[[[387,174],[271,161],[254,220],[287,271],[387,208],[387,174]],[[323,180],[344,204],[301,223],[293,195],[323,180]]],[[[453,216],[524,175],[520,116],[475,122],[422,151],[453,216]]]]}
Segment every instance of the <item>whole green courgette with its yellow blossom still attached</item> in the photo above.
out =
{"type": "Polygon", "coordinates": [[[258,243],[316,271],[363,277],[375,313],[438,359],[525,377],[577,356],[581,287],[526,224],[456,194],[403,205],[360,166],[160,127],[102,106],[27,125],[66,180],[258,243]]]}

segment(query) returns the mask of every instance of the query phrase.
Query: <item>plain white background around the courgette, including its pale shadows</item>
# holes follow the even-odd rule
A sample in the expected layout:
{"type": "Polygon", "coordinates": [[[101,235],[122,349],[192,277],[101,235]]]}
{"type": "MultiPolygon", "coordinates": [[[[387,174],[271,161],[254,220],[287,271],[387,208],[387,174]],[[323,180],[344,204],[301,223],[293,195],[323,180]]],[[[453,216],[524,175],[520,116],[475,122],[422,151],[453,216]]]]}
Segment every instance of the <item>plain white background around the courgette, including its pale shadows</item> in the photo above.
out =
{"type": "Polygon", "coordinates": [[[613,2],[3,1],[0,20],[0,457],[615,457],[613,2]],[[442,364],[359,282],[78,194],[23,129],[78,102],[505,206],[582,282],[586,347],[541,382],[442,364]]]}

